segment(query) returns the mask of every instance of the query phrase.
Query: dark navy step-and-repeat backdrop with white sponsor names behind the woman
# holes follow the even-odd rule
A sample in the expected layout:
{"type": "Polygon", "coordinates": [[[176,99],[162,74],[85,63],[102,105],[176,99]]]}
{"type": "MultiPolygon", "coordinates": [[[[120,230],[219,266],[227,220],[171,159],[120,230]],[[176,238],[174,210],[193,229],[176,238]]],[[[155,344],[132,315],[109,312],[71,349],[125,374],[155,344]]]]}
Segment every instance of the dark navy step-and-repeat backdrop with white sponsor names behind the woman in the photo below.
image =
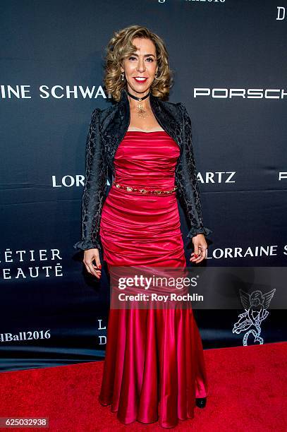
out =
{"type": "Polygon", "coordinates": [[[287,1],[13,0],[0,9],[1,370],[104,359],[109,274],[104,265],[101,281],[88,275],[73,244],[90,117],[112,103],[104,50],[133,24],[166,42],[169,100],[193,121],[213,231],[193,268],[208,299],[194,308],[204,348],[286,340],[287,1]]]}

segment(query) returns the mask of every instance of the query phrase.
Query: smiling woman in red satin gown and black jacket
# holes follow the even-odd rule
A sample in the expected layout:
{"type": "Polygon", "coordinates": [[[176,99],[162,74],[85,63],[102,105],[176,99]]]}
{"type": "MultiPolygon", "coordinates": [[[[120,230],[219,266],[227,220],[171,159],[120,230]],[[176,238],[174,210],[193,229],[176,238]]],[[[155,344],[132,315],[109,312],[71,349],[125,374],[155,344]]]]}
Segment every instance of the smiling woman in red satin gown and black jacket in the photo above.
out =
{"type": "MultiPolygon", "coordinates": [[[[202,223],[190,117],[181,102],[164,102],[171,88],[164,42],[140,25],[115,32],[104,81],[116,104],[92,113],[83,236],[74,245],[85,251],[87,272],[99,279],[102,251],[108,270],[185,268],[177,198],[190,222],[190,261],[200,263],[207,251],[204,235],[212,230],[202,223]]],[[[191,306],[110,309],[99,402],[111,404],[122,423],[176,426],[178,419],[193,418],[195,404],[204,407],[207,392],[191,306]]]]}

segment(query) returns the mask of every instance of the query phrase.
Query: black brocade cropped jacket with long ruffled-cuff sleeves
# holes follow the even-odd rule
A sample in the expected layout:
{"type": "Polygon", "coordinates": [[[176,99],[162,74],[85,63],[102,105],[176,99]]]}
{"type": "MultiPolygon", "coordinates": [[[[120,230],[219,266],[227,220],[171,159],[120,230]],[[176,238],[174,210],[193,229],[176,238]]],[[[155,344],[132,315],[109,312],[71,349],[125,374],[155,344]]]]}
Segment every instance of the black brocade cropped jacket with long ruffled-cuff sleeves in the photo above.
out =
{"type": "MultiPolygon", "coordinates": [[[[204,227],[202,222],[190,116],[181,102],[164,102],[152,94],[149,95],[149,102],[160,126],[169,133],[180,148],[175,184],[178,186],[176,193],[183,203],[190,222],[190,232],[187,237],[200,233],[207,236],[212,233],[212,230],[204,227]]],[[[85,152],[82,239],[73,245],[75,249],[102,250],[99,223],[106,198],[107,179],[110,184],[114,181],[114,155],[129,124],[130,104],[126,90],[122,90],[121,100],[113,106],[106,109],[96,108],[92,112],[85,152]]]]}

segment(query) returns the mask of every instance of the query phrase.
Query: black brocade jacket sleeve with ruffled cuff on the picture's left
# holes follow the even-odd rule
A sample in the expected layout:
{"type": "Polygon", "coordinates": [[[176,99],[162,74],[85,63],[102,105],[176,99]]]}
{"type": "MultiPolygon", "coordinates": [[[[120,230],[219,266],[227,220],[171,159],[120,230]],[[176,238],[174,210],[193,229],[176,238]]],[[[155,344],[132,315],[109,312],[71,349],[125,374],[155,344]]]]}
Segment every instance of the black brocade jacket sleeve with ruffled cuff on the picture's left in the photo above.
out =
{"type": "Polygon", "coordinates": [[[75,249],[102,249],[99,244],[99,222],[104,203],[107,164],[99,130],[99,108],[92,112],[85,151],[85,186],[82,198],[82,239],[75,249]]]}

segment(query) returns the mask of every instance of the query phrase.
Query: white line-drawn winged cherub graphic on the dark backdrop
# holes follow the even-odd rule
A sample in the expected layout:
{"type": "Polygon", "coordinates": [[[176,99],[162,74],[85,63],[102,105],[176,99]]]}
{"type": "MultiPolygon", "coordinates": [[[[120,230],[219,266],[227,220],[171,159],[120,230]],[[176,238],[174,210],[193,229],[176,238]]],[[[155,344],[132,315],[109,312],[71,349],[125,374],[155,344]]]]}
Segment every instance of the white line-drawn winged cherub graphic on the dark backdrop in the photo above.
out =
{"type": "Polygon", "coordinates": [[[245,312],[239,314],[240,319],[234,324],[232,332],[239,335],[240,332],[245,332],[245,330],[250,328],[243,336],[243,346],[248,345],[248,336],[250,333],[254,336],[254,342],[263,344],[263,338],[259,336],[261,333],[260,325],[269,316],[269,312],[266,309],[269,308],[275,291],[276,289],[274,288],[266,294],[262,294],[261,291],[254,291],[248,294],[243,289],[239,289],[241,304],[245,308],[245,312]]]}

